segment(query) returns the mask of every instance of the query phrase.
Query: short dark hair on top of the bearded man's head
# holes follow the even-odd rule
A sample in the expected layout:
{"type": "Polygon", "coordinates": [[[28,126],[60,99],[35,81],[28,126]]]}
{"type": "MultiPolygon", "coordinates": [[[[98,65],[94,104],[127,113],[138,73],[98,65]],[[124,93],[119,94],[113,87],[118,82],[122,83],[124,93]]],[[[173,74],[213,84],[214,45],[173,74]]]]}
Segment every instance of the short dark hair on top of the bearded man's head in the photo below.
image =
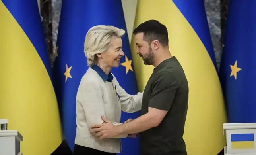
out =
{"type": "Polygon", "coordinates": [[[141,23],[134,29],[133,33],[143,33],[143,40],[148,43],[151,43],[153,40],[158,40],[162,46],[168,45],[167,28],[157,20],[149,20],[141,23]]]}

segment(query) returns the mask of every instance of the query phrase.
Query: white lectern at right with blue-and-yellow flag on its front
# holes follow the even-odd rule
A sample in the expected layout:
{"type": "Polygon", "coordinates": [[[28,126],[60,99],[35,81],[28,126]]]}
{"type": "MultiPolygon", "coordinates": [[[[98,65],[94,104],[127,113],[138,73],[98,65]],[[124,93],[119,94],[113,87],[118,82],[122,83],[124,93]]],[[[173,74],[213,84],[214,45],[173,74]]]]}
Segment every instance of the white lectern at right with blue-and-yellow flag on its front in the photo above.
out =
{"type": "Polygon", "coordinates": [[[256,155],[256,123],[225,123],[225,155],[256,155]]]}

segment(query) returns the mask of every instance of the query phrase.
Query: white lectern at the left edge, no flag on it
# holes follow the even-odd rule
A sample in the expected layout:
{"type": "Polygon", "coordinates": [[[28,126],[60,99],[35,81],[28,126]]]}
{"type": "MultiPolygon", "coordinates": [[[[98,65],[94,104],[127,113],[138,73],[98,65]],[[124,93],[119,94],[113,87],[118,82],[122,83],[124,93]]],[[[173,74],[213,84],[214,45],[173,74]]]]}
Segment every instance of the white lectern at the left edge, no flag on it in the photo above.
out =
{"type": "Polygon", "coordinates": [[[0,155],[19,155],[23,137],[17,130],[0,131],[0,155]]]}

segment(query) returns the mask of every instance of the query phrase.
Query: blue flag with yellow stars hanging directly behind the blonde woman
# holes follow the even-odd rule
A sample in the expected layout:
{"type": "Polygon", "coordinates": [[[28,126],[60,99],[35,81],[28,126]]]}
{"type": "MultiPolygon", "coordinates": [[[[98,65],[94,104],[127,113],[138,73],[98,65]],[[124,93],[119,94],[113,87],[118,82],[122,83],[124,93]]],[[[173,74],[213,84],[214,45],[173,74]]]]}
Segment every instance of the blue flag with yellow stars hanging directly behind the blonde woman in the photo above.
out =
{"type": "MultiPolygon", "coordinates": [[[[73,150],[76,136],[76,93],[82,76],[87,71],[87,60],[83,52],[87,31],[96,25],[112,25],[126,31],[121,0],[91,0],[62,2],[58,32],[58,57],[56,57],[56,92],[60,102],[64,135],[73,150]]],[[[127,32],[127,31],[126,31],[127,32]]],[[[132,55],[127,33],[122,37],[125,57],[118,68],[112,68],[120,86],[127,93],[138,93],[132,66],[132,55]]],[[[135,119],[136,113],[122,113],[121,123],[128,118],[135,119]]],[[[122,139],[123,155],[139,153],[138,138],[122,139]]]]}

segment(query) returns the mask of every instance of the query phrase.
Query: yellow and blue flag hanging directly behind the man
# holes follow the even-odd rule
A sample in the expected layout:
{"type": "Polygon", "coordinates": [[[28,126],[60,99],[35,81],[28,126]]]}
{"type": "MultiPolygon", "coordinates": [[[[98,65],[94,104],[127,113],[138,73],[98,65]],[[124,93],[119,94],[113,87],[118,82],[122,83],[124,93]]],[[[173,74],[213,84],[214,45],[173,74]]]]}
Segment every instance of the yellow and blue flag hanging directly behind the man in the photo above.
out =
{"type": "MultiPolygon", "coordinates": [[[[190,93],[184,133],[188,154],[217,155],[225,146],[226,114],[204,1],[138,1],[134,27],[150,19],[167,26],[169,49],[180,61],[188,79],[190,93]]],[[[143,91],[153,66],[145,66],[135,54],[134,38],[132,51],[139,90],[143,91]]]]}

